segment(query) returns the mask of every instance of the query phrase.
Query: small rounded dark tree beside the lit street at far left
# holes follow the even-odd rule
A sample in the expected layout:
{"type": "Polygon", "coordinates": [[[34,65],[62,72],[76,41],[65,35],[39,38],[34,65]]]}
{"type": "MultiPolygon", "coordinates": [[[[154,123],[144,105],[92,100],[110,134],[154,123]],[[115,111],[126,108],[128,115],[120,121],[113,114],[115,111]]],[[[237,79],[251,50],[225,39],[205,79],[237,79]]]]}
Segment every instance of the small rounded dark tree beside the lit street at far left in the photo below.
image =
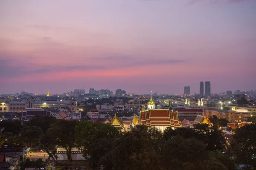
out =
{"type": "Polygon", "coordinates": [[[25,126],[20,133],[20,139],[24,144],[29,146],[29,152],[33,145],[40,143],[42,136],[43,131],[38,126],[25,126]]]}

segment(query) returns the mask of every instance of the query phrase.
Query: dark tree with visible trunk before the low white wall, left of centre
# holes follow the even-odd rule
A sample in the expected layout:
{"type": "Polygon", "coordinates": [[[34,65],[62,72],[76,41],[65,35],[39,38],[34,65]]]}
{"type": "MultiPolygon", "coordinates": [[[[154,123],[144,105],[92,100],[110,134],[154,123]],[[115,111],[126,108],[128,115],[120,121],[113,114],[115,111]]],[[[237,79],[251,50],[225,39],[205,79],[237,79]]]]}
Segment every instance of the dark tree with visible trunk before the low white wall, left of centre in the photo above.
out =
{"type": "Polygon", "coordinates": [[[72,147],[75,147],[75,127],[79,121],[59,121],[53,124],[45,134],[44,147],[56,151],[55,146],[63,147],[66,150],[68,161],[72,161],[72,147]],[[51,143],[49,143],[51,142],[51,143]]]}

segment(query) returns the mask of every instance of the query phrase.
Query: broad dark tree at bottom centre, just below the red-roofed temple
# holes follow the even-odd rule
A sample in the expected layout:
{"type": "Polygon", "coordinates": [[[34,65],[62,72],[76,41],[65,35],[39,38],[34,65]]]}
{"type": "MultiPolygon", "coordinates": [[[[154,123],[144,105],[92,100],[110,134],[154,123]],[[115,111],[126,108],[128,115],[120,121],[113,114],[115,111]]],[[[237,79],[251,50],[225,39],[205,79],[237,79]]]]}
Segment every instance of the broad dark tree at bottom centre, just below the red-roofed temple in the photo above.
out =
{"type": "Polygon", "coordinates": [[[151,134],[155,133],[148,133],[148,127],[137,125],[115,140],[114,147],[102,157],[99,165],[113,170],[163,169],[162,156],[154,149],[155,139],[151,134]]]}

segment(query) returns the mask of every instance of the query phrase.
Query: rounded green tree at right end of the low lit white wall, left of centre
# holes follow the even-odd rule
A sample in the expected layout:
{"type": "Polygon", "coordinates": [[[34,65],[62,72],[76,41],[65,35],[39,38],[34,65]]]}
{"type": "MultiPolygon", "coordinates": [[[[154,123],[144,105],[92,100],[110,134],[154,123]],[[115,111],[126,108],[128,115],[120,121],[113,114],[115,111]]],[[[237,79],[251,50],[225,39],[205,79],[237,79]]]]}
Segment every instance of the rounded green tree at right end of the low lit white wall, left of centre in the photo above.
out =
{"type": "Polygon", "coordinates": [[[96,168],[99,159],[113,147],[113,140],[119,130],[110,124],[81,122],[76,126],[76,144],[83,150],[84,158],[88,158],[92,168],[96,168]]]}

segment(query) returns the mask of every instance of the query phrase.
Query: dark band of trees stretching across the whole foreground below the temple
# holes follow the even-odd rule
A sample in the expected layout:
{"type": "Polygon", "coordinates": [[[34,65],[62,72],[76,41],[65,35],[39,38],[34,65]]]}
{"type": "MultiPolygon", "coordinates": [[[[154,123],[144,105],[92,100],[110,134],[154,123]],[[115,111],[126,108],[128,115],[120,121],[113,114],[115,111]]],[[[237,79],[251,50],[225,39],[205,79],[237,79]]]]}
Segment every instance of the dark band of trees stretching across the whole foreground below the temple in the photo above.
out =
{"type": "Polygon", "coordinates": [[[256,167],[256,124],[236,129],[227,143],[218,127],[206,124],[194,128],[166,128],[137,125],[121,133],[110,124],[85,121],[57,121],[35,116],[28,122],[0,122],[1,145],[33,147],[41,145],[58,162],[57,147],[67,151],[78,147],[92,169],[105,170],[235,170],[256,167]]]}

